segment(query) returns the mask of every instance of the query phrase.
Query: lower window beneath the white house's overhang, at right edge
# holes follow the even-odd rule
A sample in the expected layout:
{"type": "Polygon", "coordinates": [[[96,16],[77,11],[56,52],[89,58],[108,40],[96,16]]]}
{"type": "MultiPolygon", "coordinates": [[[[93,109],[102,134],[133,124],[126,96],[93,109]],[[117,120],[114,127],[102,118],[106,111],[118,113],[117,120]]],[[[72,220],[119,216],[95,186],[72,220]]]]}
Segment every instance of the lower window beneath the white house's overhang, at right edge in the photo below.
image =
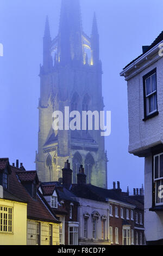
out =
{"type": "Polygon", "coordinates": [[[163,185],[163,153],[154,156],[154,188],[155,188],[155,204],[163,204],[162,197],[163,185]]]}

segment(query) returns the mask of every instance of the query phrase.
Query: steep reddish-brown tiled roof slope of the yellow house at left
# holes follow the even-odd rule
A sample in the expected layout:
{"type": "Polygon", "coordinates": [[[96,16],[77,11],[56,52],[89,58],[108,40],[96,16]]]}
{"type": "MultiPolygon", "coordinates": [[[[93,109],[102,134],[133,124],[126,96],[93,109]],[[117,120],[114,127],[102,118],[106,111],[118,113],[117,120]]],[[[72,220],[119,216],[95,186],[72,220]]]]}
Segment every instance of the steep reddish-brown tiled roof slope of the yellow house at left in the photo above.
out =
{"type": "MultiPolygon", "coordinates": [[[[39,190],[37,190],[36,199],[32,198],[26,188],[18,181],[17,174],[20,175],[22,171],[15,166],[11,167],[11,174],[9,175],[9,189],[8,192],[14,195],[18,200],[27,203],[27,218],[40,221],[60,223],[48,204],[42,197],[39,190]]],[[[33,171],[32,171],[33,172],[33,171]]],[[[27,171],[28,173],[28,171],[27,171]]],[[[30,172],[29,172],[30,174],[30,172]]],[[[27,176],[29,175],[27,174],[27,176]]],[[[29,175],[30,176],[30,175],[29,175]]]]}

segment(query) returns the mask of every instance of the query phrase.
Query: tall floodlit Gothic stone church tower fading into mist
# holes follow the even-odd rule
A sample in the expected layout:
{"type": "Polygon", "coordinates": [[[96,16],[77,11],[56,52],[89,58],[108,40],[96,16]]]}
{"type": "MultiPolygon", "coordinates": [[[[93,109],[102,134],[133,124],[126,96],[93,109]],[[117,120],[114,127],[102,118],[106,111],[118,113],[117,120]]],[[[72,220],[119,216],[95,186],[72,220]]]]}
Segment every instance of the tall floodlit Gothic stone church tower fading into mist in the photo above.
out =
{"type": "Polygon", "coordinates": [[[82,30],[79,0],[62,0],[57,37],[51,39],[48,18],[40,66],[39,134],[36,170],[40,181],[58,181],[68,159],[77,182],[80,164],[87,183],[107,186],[107,157],[101,130],[53,130],[55,110],[102,111],[102,64],[96,16],[91,37],[82,30]]]}

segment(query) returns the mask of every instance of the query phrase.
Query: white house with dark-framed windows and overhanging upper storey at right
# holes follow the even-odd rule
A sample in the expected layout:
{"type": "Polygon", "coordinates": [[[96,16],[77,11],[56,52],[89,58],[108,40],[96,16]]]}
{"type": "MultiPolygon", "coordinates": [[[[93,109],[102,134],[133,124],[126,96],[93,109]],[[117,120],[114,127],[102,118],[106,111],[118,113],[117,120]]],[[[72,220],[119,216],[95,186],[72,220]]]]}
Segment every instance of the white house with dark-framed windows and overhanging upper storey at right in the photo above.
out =
{"type": "Polygon", "coordinates": [[[163,244],[163,32],[121,72],[127,81],[129,152],[145,158],[147,245],[163,244]]]}

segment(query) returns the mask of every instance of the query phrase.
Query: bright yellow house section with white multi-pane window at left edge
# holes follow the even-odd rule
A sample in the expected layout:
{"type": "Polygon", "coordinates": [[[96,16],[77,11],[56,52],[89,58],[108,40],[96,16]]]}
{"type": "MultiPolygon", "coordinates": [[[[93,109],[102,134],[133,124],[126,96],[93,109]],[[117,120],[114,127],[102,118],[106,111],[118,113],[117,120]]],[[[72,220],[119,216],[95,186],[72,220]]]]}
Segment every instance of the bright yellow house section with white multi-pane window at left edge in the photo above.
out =
{"type": "Polygon", "coordinates": [[[27,203],[18,201],[2,186],[0,186],[0,245],[27,245],[27,203]]]}

